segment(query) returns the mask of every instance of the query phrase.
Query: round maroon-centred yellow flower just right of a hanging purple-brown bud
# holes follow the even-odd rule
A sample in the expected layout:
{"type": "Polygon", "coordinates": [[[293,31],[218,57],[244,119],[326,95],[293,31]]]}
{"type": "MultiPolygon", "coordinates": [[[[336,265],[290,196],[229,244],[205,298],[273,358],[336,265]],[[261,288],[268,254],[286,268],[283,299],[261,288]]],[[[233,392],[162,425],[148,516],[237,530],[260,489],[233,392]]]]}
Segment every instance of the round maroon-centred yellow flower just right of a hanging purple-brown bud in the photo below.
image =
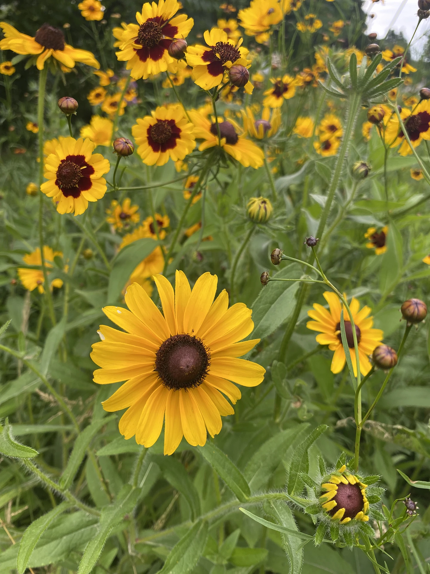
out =
{"type": "Polygon", "coordinates": [[[170,158],[183,160],[196,147],[193,125],[182,106],[159,106],[136,122],[131,133],[146,165],[165,165],[170,158]]]}

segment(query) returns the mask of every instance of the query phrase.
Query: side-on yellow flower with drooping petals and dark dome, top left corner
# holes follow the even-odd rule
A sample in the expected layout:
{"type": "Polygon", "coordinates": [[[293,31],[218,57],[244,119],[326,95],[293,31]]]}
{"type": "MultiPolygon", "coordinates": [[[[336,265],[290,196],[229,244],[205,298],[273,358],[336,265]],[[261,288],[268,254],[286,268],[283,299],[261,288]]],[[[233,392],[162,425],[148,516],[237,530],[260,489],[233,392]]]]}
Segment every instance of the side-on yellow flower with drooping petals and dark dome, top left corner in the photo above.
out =
{"type": "Polygon", "coordinates": [[[0,40],[0,49],[11,50],[21,55],[38,55],[36,60],[38,70],[44,69],[45,62],[50,57],[68,68],[74,68],[76,62],[88,64],[93,68],[100,68],[100,64],[91,52],[69,46],[64,40],[62,30],[49,24],[42,24],[34,38],[27,36],[27,34],[21,34],[6,22],[0,22],[0,28],[5,34],[3,40],[0,40]]]}

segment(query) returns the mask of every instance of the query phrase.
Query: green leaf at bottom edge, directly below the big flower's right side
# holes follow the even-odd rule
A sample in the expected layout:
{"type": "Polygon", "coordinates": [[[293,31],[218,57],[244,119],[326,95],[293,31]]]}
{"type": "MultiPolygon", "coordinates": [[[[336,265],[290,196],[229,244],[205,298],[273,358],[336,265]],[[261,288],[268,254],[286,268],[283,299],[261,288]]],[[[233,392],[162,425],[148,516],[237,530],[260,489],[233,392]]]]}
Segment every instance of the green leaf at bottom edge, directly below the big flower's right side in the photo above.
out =
{"type": "Polygon", "coordinates": [[[205,549],[208,523],[199,520],[171,549],[158,574],[188,574],[197,565],[205,549]]]}

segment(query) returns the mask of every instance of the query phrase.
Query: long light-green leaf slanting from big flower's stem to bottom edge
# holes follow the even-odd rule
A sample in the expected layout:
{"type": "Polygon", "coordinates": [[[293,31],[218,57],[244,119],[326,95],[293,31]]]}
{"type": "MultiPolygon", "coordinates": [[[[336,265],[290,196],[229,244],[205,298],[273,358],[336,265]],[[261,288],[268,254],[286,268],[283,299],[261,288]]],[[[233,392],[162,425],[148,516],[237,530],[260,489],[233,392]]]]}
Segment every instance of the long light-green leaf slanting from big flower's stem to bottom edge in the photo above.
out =
{"type": "Polygon", "coordinates": [[[101,511],[99,531],[88,542],[79,563],[77,574],[89,574],[92,571],[97,564],[107,538],[124,516],[132,512],[138,501],[139,494],[140,488],[133,488],[130,484],[124,484],[115,503],[101,511]]]}

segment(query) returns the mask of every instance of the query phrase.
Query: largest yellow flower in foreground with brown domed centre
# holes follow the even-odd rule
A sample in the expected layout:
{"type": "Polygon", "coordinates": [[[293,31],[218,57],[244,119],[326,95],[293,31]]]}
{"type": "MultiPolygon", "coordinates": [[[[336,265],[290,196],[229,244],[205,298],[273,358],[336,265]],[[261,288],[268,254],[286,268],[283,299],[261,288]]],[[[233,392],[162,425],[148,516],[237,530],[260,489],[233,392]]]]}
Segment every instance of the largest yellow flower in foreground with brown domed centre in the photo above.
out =
{"type": "Polygon", "coordinates": [[[161,275],[154,280],[163,314],[142,287],[130,285],[125,295],[130,311],[103,309],[125,332],[101,325],[101,342],[93,345],[91,358],[101,367],[94,371],[96,383],[126,381],[102,403],[108,412],[127,409],[120,433],[151,447],[165,420],[164,452],[170,455],[182,436],[202,446],[206,429],[217,435],[221,415],[234,413],[221,393],[234,404],[241,394],[233,383],[259,385],[265,370],[238,358],[259,342],[240,343],[253,329],[252,311],[243,303],[228,309],[225,290],[213,301],[216,276],[204,273],[193,290],[181,271],[175,290],[161,275]]]}

